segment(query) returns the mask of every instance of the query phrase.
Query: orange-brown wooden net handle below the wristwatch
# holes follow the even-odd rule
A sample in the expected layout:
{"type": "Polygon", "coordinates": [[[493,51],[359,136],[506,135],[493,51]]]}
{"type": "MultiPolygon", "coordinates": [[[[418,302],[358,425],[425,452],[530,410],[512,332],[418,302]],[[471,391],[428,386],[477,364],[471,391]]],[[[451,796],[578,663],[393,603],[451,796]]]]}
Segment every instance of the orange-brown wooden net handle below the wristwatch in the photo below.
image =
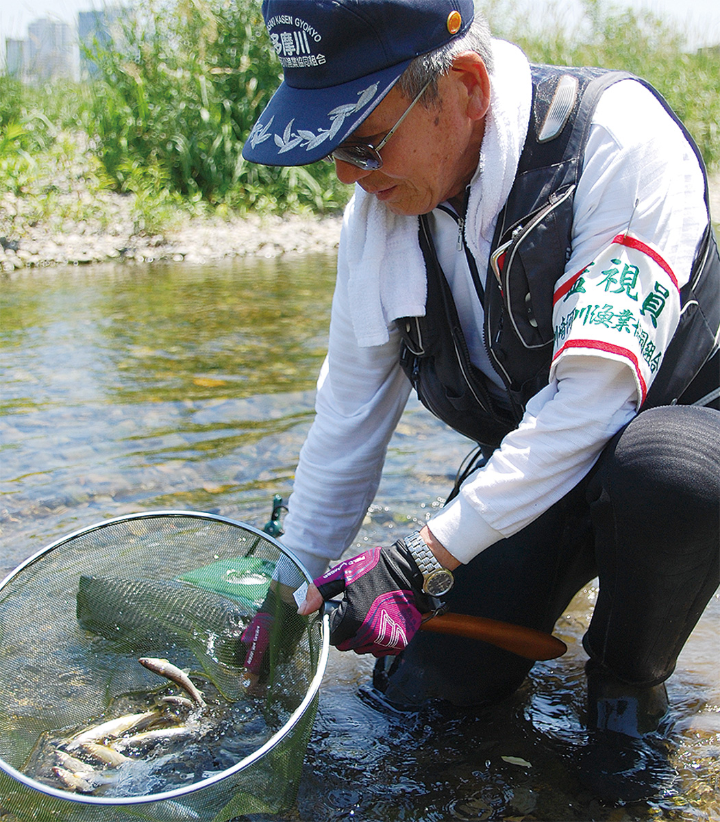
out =
{"type": "Polygon", "coordinates": [[[510,622],[487,617],[470,617],[468,614],[441,614],[427,619],[420,628],[435,631],[436,634],[482,640],[526,659],[555,659],[567,650],[567,645],[562,640],[542,630],[511,625],[510,622]]]}

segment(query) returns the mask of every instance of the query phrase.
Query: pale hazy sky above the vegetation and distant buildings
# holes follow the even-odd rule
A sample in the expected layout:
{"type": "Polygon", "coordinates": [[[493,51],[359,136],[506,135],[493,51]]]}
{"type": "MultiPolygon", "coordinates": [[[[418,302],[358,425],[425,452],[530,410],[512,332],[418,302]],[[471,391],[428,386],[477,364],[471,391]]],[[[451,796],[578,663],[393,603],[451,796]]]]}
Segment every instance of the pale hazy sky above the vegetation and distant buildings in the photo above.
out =
{"type": "MultiPolygon", "coordinates": [[[[0,0],[0,46],[4,57],[6,37],[23,39],[27,25],[38,17],[76,24],[77,12],[102,8],[106,0],[0,0]]],[[[579,0],[565,0],[579,7],[579,0]]],[[[675,20],[690,35],[692,44],[720,44],[718,0],[612,0],[618,7],[648,8],[668,21],[675,20]]],[[[108,5],[118,5],[109,2],[108,5]]],[[[537,2],[533,2],[537,8],[537,2]]]]}

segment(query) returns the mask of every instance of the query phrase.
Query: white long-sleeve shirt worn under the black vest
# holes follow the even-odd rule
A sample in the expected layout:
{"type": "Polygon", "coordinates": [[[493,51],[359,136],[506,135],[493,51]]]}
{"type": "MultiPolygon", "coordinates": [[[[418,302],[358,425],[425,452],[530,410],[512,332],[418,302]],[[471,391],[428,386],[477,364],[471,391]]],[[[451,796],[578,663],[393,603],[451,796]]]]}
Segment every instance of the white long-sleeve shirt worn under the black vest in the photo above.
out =
{"type": "MultiPolygon", "coordinates": [[[[473,185],[482,185],[489,173],[492,169],[483,169],[473,185]]],[[[575,192],[566,274],[583,270],[630,225],[672,266],[681,287],[708,220],[703,193],[695,154],[658,100],[635,81],[612,85],[593,116],[575,192]]],[[[454,251],[457,229],[448,215],[436,211],[434,217],[441,266],[459,304],[471,357],[487,370],[479,333],[482,305],[473,298],[464,252],[454,251]]],[[[347,232],[346,219],[316,419],[301,451],[285,520],[284,544],[311,575],[325,570],[358,533],[410,391],[399,367],[394,326],[389,325],[385,344],[357,343],[348,298],[347,232]]],[[[489,249],[481,251],[487,259],[489,249]]],[[[484,267],[478,264],[481,275],[484,267]]],[[[592,350],[569,354],[558,359],[550,384],[528,402],[519,427],[429,521],[459,561],[468,562],[516,533],[569,492],[635,415],[641,398],[627,363],[592,350]]],[[[488,376],[497,381],[494,372],[488,376]]]]}

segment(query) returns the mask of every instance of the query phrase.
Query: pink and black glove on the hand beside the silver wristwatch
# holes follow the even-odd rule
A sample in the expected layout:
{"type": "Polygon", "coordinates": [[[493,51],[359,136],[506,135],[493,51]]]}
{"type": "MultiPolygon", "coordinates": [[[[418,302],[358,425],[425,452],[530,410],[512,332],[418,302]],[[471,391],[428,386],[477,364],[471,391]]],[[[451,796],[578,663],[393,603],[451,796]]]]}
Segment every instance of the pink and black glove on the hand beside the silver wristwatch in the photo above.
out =
{"type": "Polygon", "coordinates": [[[395,656],[437,607],[422,593],[422,574],[402,540],[371,548],[341,562],[315,580],[325,600],[344,593],[330,614],[330,644],[340,651],[395,656]]]}

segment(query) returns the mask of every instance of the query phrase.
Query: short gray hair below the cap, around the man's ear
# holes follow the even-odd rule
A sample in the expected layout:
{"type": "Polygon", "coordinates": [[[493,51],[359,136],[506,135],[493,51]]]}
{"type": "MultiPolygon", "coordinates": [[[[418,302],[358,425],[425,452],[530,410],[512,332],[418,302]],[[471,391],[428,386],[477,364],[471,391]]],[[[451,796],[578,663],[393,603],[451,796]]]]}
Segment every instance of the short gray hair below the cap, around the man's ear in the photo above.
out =
{"type": "Polygon", "coordinates": [[[492,48],[490,45],[490,26],[487,20],[478,12],[470,28],[462,37],[450,40],[440,48],[427,54],[421,54],[405,69],[398,81],[399,89],[404,97],[413,99],[427,85],[425,94],[420,102],[429,106],[437,99],[437,81],[442,75],[450,72],[453,60],[463,52],[477,53],[485,63],[487,72],[492,72],[492,48]]]}

